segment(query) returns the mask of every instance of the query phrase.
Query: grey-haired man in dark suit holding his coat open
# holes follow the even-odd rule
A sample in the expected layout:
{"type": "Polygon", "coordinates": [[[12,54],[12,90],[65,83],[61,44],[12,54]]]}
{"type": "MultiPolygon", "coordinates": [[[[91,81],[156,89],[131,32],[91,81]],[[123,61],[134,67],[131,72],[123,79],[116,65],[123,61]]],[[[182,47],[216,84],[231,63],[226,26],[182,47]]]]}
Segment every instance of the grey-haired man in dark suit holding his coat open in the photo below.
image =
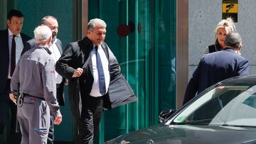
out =
{"type": "Polygon", "coordinates": [[[78,143],[93,143],[103,108],[137,101],[104,42],[106,27],[99,18],[90,20],[87,36],[70,43],[56,62],[56,71],[68,79],[70,108],[78,123],[78,143]]]}

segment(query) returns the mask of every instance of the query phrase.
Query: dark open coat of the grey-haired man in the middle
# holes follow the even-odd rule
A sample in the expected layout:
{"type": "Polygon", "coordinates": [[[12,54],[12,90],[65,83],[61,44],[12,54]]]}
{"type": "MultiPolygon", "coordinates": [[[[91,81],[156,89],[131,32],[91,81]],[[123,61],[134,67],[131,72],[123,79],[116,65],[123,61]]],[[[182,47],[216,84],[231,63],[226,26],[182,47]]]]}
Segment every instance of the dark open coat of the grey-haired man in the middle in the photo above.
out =
{"type": "MultiPolygon", "coordinates": [[[[80,102],[85,99],[85,96],[90,95],[92,89],[92,60],[90,57],[92,48],[92,41],[85,37],[82,40],[70,43],[58,62],[56,62],[56,71],[68,79],[70,107],[76,118],[80,117],[82,108],[80,102]],[[84,72],[80,78],[73,78],[72,75],[78,67],[83,68],[84,72]]],[[[104,42],[102,43],[102,48],[110,63],[110,87],[108,93],[103,96],[104,108],[111,109],[121,104],[137,101],[137,97],[119,71],[119,64],[116,58],[114,55],[110,55],[109,48],[104,42]]]]}

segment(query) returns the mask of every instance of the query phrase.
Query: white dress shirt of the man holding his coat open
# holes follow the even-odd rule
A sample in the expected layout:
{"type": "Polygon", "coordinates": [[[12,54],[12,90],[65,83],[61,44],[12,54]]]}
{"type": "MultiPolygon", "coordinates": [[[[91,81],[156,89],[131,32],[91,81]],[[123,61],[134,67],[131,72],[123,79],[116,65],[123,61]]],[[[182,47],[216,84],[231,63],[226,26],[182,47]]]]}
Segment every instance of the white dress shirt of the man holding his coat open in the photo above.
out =
{"type": "MultiPolygon", "coordinates": [[[[100,84],[99,84],[99,76],[98,76],[98,71],[97,71],[97,61],[96,61],[96,50],[95,50],[95,45],[93,45],[93,49],[90,53],[92,57],[92,72],[93,72],[93,84],[92,84],[92,91],[90,92],[91,96],[102,96],[100,94],[100,84]]],[[[106,93],[108,90],[108,87],[110,86],[110,72],[109,72],[109,62],[107,60],[107,56],[102,49],[101,45],[98,46],[97,50],[100,54],[100,60],[102,61],[102,67],[103,67],[103,72],[105,76],[105,86],[106,86],[106,93]]]]}

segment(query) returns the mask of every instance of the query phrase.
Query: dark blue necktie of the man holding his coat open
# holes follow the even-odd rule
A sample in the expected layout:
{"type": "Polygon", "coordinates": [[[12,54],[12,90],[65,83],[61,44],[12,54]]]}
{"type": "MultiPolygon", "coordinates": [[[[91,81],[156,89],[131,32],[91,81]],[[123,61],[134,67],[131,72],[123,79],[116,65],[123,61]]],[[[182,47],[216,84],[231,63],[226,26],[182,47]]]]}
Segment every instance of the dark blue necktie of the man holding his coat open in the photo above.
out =
{"type": "Polygon", "coordinates": [[[106,87],[105,87],[105,76],[103,72],[103,67],[102,67],[102,62],[100,59],[100,54],[97,51],[98,46],[95,46],[96,50],[96,61],[97,61],[97,71],[98,71],[98,77],[99,77],[99,83],[100,83],[100,94],[105,94],[106,93],[106,87]]]}

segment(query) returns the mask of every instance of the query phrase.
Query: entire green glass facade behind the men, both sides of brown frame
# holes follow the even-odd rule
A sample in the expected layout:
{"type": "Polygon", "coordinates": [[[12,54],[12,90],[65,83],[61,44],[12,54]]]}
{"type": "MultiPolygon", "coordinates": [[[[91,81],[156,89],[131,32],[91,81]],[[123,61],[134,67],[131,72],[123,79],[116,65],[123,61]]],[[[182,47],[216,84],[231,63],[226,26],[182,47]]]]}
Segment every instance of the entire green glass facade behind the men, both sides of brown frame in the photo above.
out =
{"type": "MultiPolygon", "coordinates": [[[[23,12],[23,33],[33,37],[41,18],[58,18],[58,38],[63,49],[81,38],[82,0],[29,1],[7,3],[23,12]],[[74,6],[76,5],[76,6],[74,6]],[[78,7],[77,7],[78,6],[78,7]],[[76,26],[76,24],[78,26],[76,26]]],[[[88,19],[107,23],[105,42],[121,65],[138,101],[105,111],[97,143],[139,128],[159,123],[163,109],[176,109],[176,0],[88,0],[88,19]]],[[[63,123],[55,126],[55,140],[75,140],[75,122],[68,105],[61,106],[63,123]]]]}

